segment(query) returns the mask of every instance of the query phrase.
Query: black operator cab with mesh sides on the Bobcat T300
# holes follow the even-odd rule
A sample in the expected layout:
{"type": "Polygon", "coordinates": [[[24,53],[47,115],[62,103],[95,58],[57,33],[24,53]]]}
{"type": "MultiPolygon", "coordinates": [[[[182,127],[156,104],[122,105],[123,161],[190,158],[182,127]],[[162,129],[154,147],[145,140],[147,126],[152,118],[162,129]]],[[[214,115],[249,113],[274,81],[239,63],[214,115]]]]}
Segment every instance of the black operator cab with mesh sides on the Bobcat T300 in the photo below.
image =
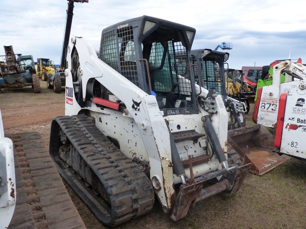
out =
{"type": "MultiPolygon", "coordinates": [[[[192,27],[150,16],[126,20],[102,31],[99,58],[155,95],[164,115],[198,113],[190,67],[195,32],[192,27]]],[[[116,101],[107,90],[103,97],[116,101]]]]}

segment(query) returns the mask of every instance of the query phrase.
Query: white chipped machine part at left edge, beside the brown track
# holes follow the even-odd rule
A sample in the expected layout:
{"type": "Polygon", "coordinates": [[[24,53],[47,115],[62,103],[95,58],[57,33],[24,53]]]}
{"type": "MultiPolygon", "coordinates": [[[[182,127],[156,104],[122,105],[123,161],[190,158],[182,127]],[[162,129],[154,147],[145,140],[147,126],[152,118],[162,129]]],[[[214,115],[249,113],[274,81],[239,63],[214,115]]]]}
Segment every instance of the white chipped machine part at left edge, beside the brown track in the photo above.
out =
{"type": "Polygon", "coordinates": [[[16,203],[16,182],[13,142],[4,137],[0,110],[0,220],[1,228],[7,228],[16,203]]]}

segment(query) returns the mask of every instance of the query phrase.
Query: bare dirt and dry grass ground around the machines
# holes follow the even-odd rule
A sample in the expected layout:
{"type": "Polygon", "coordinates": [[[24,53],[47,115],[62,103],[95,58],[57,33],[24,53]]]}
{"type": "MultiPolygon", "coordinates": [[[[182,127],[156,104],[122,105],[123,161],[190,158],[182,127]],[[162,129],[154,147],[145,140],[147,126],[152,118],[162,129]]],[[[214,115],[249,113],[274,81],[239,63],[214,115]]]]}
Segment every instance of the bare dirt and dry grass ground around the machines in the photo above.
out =
{"type": "MultiPolygon", "coordinates": [[[[42,93],[31,87],[2,89],[0,108],[5,133],[36,131],[48,148],[50,123],[64,115],[64,87],[56,94],[41,83],[42,93]]],[[[252,122],[252,110],[247,115],[252,122]]],[[[256,139],[255,139],[256,140],[256,139]]],[[[106,228],[66,184],[88,229],[106,228]]],[[[306,163],[291,158],[263,176],[248,174],[237,194],[217,194],[197,203],[188,215],[174,222],[155,201],[145,216],[116,228],[306,228],[306,163]]]]}

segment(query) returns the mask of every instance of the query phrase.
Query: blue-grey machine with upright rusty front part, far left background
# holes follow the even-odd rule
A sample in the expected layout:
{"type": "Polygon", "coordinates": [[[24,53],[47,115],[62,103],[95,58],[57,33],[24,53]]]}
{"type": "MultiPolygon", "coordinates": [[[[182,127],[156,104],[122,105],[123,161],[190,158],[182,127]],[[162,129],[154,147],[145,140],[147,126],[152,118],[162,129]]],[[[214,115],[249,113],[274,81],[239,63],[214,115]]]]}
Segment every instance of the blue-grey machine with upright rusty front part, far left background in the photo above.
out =
{"type": "Polygon", "coordinates": [[[21,88],[32,86],[35,93],[40,93],[39,78],[36,74],[33,57],[22,56],[13,51],[13,46],[3,46],[5,55],[0,61],[1,88],[21,88]],[[17,57],[17,58],[16,58],[17,57]]]}

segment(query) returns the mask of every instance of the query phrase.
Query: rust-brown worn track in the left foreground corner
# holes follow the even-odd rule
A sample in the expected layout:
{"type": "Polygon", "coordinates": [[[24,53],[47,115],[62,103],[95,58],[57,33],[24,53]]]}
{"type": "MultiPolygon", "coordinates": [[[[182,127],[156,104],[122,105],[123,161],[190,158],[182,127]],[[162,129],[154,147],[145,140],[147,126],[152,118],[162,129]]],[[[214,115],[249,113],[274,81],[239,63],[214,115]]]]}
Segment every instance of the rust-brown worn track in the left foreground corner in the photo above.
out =
{"type": "Polygon", "coordinates": [[[13,140],[16,207],[9,229],[86,228],[38,133],[13,140]]]}

